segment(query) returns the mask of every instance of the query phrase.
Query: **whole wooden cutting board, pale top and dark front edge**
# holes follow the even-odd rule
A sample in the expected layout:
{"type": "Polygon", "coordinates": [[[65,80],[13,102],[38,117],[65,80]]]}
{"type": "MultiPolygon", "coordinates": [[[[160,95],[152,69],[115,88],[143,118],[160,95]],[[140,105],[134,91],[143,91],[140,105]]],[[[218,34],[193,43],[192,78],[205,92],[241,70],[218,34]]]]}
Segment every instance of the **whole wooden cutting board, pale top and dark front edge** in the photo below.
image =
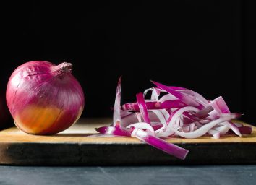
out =
{"type": "Polygon", "coordinates": [[[38,136],[16,127],[0,132],[1,165],[187,165],[256,163],[256,128],[243,137],[167,139],[189,150],[185,160],[129,137],[88,137],[111,119],[81,119],[59,134],[38,136]]]}

